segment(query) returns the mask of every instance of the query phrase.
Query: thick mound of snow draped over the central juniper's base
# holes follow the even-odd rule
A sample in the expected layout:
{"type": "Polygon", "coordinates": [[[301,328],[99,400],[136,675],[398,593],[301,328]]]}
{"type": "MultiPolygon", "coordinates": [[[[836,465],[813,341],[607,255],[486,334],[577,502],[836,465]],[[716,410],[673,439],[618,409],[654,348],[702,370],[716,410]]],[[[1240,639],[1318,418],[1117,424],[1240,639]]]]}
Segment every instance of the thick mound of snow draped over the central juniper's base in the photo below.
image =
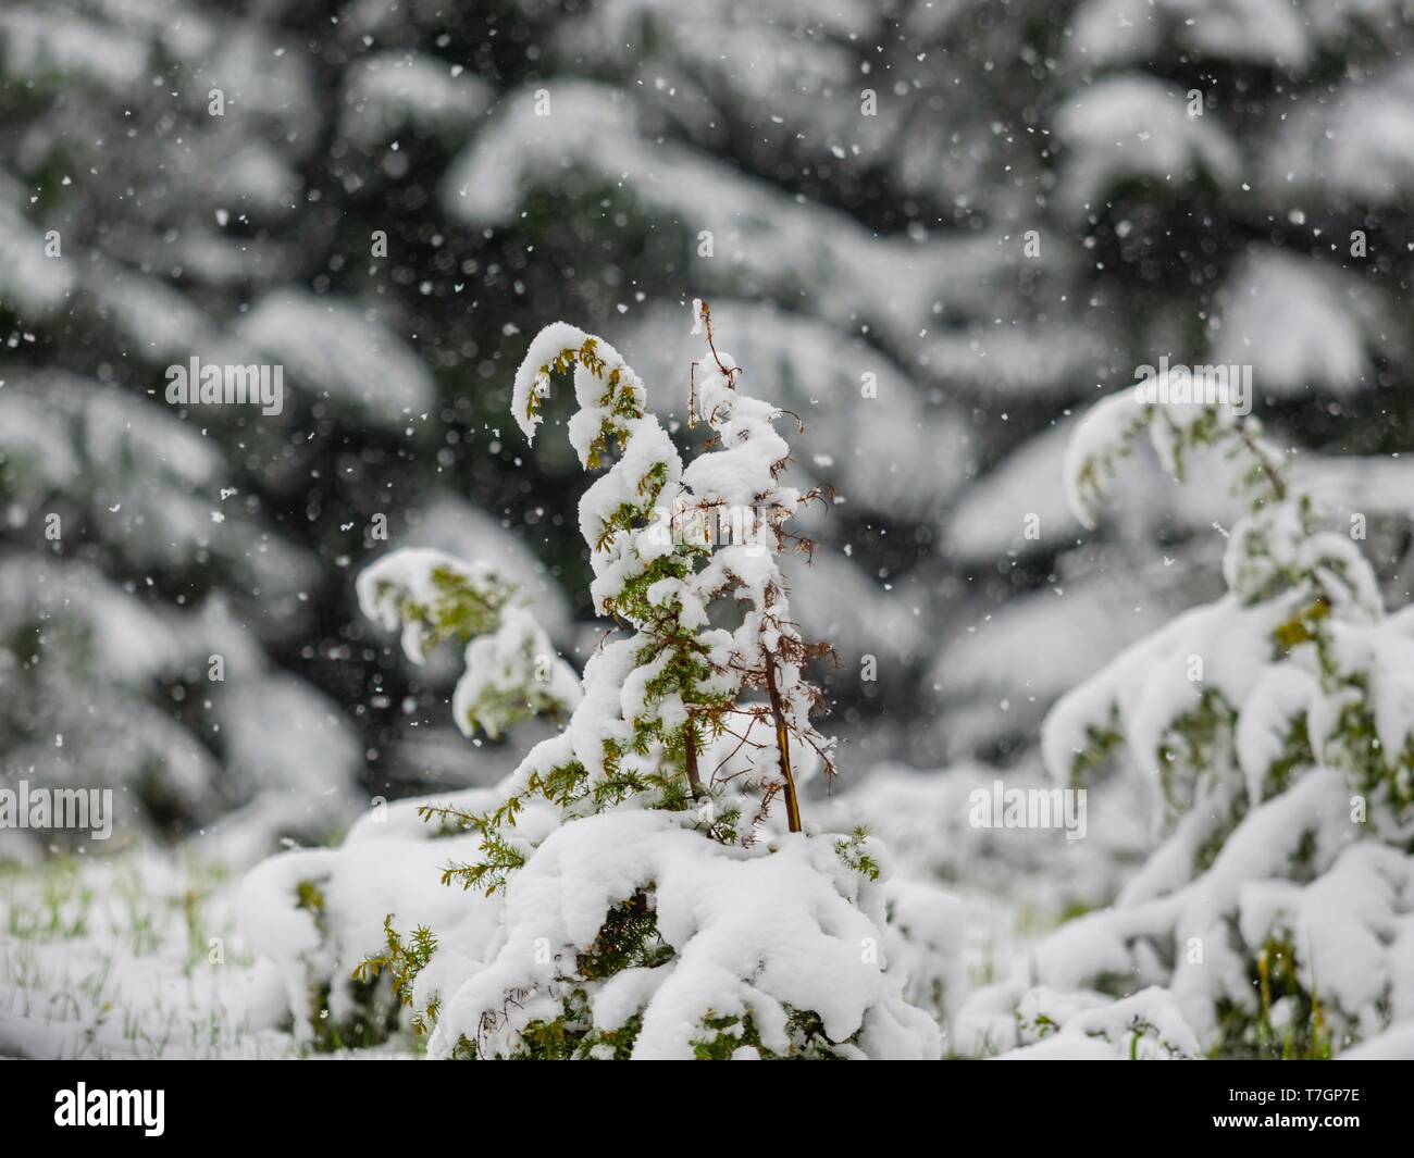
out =
{"type": "Polygon", "coordinates": [[[430,1052],[461,1035],[485,1056],[515,1049],[532,1021],[554,1017],[547,994],[567,956],[588,950],[609,908],[648,885],[673,957],[658,966],[662,978],[621,980],[592,1005],[604,1031],[641,1014],[633,1058],[691,1059],[708,1014],[749,1015],[762,1045],[786,1052],[789,1010],[817,1011],[834,1041],[858,1034],[872,1058],[939,1053],[936,1027],[902,1002],[882,959],[868,959],[870,946],[884,952],[881,923],[853,903],[857,878],[829,844],[796,837],[754,855],[658,812],[587,817],[539,847],[506,892],[486,967],[447,997],[430,1052]],[[526,995],[510,1007],[503,995],[515,991],[526,995]]]}

